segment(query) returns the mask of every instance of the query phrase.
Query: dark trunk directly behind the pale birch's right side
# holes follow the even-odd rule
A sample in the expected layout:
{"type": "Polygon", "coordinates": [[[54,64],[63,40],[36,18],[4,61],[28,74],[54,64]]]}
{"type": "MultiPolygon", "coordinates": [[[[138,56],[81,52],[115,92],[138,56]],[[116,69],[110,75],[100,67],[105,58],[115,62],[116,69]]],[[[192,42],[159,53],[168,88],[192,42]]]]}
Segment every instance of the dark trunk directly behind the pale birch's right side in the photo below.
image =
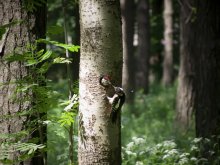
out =
{"type": "Polygon", "coordinates": [[[127,101],[132,103],[135,88],[135,59],[134,59],[134,0],[121,0],[122,33],[123,33],[123,77],[122,86],[125,90],[127,101]]]}

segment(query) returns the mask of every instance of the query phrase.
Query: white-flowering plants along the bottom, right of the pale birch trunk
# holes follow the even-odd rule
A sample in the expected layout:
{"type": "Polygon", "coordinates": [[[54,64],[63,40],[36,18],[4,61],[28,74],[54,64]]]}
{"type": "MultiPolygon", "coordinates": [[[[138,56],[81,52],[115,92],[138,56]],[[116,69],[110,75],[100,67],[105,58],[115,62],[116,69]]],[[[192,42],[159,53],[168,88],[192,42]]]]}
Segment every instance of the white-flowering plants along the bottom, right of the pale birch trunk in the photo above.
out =
{"type": "MultiPolygon", "coordinates": [[[[132,141],[122,148],[123,165],[198,165],[211,163],[201,153],[201,145],[211,144],[210,139],[194,138],[189,141],[188,148],[179,148],[174,140],[162,141],[156,145],[149,145],[147,139],[133,137],[132,141]]],[[[216,155],[211,164],[218,164],[219,149],[207,151],[216,155]]],[[[211,156],[211,155],[210,155],[211,156]]]]}

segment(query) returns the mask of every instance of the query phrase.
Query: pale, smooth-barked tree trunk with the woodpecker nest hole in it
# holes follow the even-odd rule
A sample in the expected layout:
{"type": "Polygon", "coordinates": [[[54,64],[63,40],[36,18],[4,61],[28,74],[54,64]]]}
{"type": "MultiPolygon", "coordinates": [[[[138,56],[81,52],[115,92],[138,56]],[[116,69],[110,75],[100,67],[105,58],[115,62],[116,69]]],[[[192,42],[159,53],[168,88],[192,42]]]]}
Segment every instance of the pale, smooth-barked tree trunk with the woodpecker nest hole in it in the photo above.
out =
{"type": "Polygon", "coordinates": [[[81,0],[79,78],[79,164],[121,164],[120,119],[110,120],[111,106],[101,74],[121,85],[122,35],[119,0],[81,0]]]}

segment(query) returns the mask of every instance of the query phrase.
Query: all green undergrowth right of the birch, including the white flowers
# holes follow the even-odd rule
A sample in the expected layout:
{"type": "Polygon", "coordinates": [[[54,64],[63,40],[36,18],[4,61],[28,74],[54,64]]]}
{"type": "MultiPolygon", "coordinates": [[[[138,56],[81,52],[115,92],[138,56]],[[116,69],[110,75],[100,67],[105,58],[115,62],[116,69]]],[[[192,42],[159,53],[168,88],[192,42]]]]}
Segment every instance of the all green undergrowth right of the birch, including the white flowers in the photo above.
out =
{"type": "Polygon", "coordinates": [[[219,163],[219,136],[193,138],[193,129],[174,130],[175,93],[176,85],[164,88],[152,84],[148,95],[139,91],[134,105],[123,109],[123,165],[219,163]]]}

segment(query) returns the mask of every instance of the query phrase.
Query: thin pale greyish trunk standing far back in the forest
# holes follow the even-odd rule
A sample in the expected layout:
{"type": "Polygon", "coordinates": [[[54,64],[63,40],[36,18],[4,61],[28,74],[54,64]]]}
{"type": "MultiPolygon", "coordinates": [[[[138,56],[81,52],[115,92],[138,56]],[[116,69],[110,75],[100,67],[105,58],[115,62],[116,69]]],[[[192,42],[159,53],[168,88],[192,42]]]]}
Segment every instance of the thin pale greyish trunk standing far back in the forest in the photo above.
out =
{"type": "Polygon", "coordinates": [[[173,81],[173,5],[172,0],[164,0],[164,59],[163,84],[169,86],[173,81]]]}

